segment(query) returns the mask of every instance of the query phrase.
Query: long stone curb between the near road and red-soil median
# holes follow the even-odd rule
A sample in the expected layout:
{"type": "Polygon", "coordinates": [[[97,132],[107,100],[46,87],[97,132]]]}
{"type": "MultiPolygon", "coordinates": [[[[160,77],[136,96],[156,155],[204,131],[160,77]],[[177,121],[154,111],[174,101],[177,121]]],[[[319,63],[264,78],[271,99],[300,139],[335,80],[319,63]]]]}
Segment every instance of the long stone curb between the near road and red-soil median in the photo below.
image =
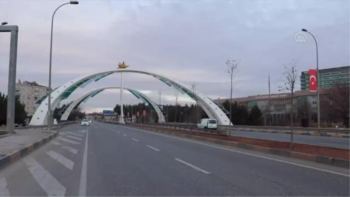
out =
{"type": "Polygon", "coordinates": [[[195,140],[199,140],[199,141],[203,141],[203,142],[211,142],[211,143],[215,143],[215,144],[227,145],[230,147],[235,147],[235,148],[240,148],[240,149],[245,149],[245,150],[253,150],[253,151],[258,151],[258,152],[264,152],[267,154],[278,155],[278,156],[282,156],[282,157],[302,159],[302,160],[311,161],[311,162],[315,162],[315,163],[321,163],[321,164],[332,165],[332,166],[336,166],[336,167],[350,169],[350,160],[347,160],[347,159],[319,156],[319,155],[311,155],[311,154],[282,150],[282,149],[260,147],[260,146],[256,146],[256,145],[243,144],[243,143],[231,142],[231,141],[225,141],[225,140],[218,140],[218,139],[202,137],[202,136],[179,134],[176,132],[163,131],[163,130],[161,130],[161,128],[145,128],[145,127],[130,126],[130,125],[124,125],[124,126],[137,127],[137,128],[142,128],[142,129],[149,130],[149,131],[152,131],[155,133],[164,133],[164,134],[173,135],[173,136],[177,136],[177,137],[191,138],[191,139],[195,139],[195,140]]]}

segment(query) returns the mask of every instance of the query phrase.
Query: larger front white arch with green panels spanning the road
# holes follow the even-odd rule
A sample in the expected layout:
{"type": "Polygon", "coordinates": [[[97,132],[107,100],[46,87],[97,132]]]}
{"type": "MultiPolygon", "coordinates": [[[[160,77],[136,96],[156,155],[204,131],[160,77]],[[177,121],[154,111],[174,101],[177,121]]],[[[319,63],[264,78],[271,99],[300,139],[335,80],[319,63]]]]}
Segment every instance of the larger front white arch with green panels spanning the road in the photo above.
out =
{"type": "MultiPolygon", "coordinates": [[[[77,88],[84,88],[87,84],[91,82],[96,82],[101,80],[102,78],[111,75],[113,73],[139,73],[145,74],[155,77],[156,79],[166,83],[170,87],[174,87],[179,90],[181,94],[187,94],[192,99],[198,101],[198,105],[205,111],[209,118],[215,118],[218,121],[218,124],[222,125],[230,125],[230,120],[226,116],[228,111],[224,109],[220,104],[216,103],[214,100],[209,97],[203,95],[199,91],[196,90],[194,93],[193,89],[186,84],[176,81],[174,79],[170,79],[169,77],[163,76],[161,74],[141,71],[141,70],[130,70],[130,69],[118,69],[118,70],[110,70],[105,72],[100,72],[96,74],[92,74],[89,76],[78,77],[74,80],[68,81],[67,83],[59,86],[51,91],[51,110],[54,110],[57,107],[57,104],[67,99],[73,91],[77,88]]],[[[35,111],[33,117],[31,118],[30,125],[43,125],[47,124],[47,115],[48,115],[48,95],[43,96],[40,100],[36,102],[36,104],[40,104],[35,111]]]]}

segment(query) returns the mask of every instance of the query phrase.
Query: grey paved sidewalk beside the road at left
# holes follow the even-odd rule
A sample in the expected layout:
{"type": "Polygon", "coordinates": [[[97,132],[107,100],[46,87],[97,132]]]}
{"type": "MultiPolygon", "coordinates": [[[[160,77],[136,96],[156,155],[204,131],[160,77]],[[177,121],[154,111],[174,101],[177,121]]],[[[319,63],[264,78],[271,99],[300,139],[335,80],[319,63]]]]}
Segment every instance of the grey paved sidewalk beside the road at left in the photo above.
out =
{"type": "Polygon", "coordinates": [[[0,159],[13,151],[21,150],[29,144],[34,144],[56,133],[56,131],[52,131],[51,134],[45,133],[45,130],[41,129],[21,129],[15,130],[15,132],[16,134],[0,138],[0,159]]]}

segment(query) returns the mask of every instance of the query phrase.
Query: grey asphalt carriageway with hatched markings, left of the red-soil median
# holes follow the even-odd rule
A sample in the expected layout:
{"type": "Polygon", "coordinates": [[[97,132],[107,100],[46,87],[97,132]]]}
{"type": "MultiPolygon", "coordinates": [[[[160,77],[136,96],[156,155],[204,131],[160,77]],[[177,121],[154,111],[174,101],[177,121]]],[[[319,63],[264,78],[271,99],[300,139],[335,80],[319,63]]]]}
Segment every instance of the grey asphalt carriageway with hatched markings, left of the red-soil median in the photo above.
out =
{"type": "Polygon", "coordinates": [[[0,171],[0,197],[349,197],[350,170],[154,134],[71,125],[0,171]]]}

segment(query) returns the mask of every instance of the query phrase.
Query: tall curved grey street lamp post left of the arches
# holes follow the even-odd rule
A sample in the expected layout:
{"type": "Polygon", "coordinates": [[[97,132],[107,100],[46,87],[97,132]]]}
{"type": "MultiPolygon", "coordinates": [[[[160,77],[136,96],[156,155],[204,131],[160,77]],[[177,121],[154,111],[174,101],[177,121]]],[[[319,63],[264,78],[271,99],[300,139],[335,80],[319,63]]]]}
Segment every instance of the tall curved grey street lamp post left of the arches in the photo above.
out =
{"type": "Polygon", "coordinates": [[[48,115],[47,115],[47,129],[48,129],[48,132],[50,132],[50,130],[51,130],[51,68],[52,68],[51,60],[52,60],[52,31],[54,29],[54,16],[55,16],[57,10],[60,7],[62,7],[64,5],[67,5],[67,4],[77,5],[77,4],[79,4],[79,1],[71,0],[68,3],[64,3],[64,4],[60,5],[60,6],[58,6],[55,9],[55,12],[52,14],[52,18],[51,18],[50,63],[49,63],[49,93],[48,93],[48,104],[47,104],[47,107],[48,107],[48,115]]]}

